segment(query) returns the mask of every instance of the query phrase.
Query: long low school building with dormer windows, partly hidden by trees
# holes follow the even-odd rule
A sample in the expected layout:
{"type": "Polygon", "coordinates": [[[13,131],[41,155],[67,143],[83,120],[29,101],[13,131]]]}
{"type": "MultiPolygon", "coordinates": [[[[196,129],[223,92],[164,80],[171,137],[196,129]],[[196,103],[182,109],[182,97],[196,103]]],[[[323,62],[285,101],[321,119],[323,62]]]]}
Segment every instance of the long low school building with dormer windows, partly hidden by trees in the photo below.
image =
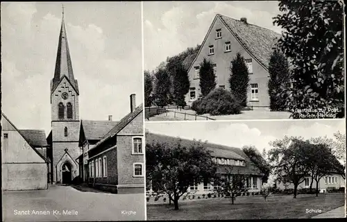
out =
{"type": "MultiPolygon", "coordinates": [[[[194,140],[146,133],[146,144],[165,142],[169,145],[172,144],[174,147],[179,140],[181,141],[182,146],[189,147],[194,143],[194,140]]],[[[208,151],[211,152],[212,160],[217,162],[217,173],[221,174],[222,178],[230,178],[230,176],[235,174],[244,175],[246,177],[246,188],[248,189],[248,192],[260,191],[263,174],[241,148],[211,143],[205,143],[204,146],[208,149],[208,151]]],[[[221,188],[219,185],[213,185],[206,181],[202,182],[201,184],[192,184],[192,186],[189,187],[189,191],[194,191],[195,194],[208,194],[219,188],[221,188]]]]}

